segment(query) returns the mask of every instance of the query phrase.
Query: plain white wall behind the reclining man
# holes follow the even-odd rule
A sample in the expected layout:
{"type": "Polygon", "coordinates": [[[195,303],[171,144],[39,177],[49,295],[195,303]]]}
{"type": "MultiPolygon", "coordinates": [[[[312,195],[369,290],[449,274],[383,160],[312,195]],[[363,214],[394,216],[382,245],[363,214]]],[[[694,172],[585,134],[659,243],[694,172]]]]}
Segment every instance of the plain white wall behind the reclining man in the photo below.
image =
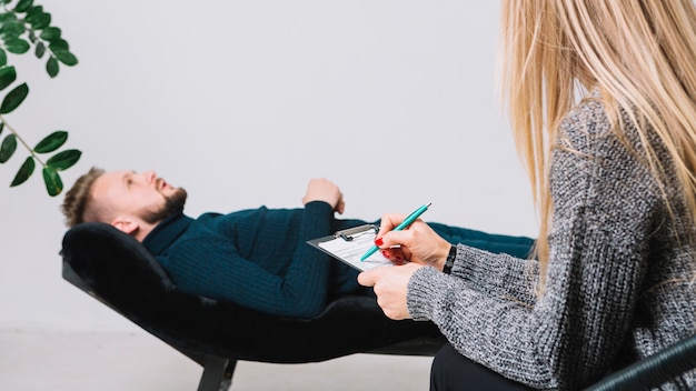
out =
{"type": "MultiPolygon", "coordinates": [[[[8,116],[29,143],[70,132],[91,166],[155,168],[187,211],[301,205],[310,178],[350,218],[534,235],[521,167],[495,92],[496,1],[41,0],[80,63],[49,79],[12,59],[27,101],[8,116]]],[[[64,233],[40,173],[9,189],[0,167],[0,325],[128,329],[62,280],[64,233]]]]}

